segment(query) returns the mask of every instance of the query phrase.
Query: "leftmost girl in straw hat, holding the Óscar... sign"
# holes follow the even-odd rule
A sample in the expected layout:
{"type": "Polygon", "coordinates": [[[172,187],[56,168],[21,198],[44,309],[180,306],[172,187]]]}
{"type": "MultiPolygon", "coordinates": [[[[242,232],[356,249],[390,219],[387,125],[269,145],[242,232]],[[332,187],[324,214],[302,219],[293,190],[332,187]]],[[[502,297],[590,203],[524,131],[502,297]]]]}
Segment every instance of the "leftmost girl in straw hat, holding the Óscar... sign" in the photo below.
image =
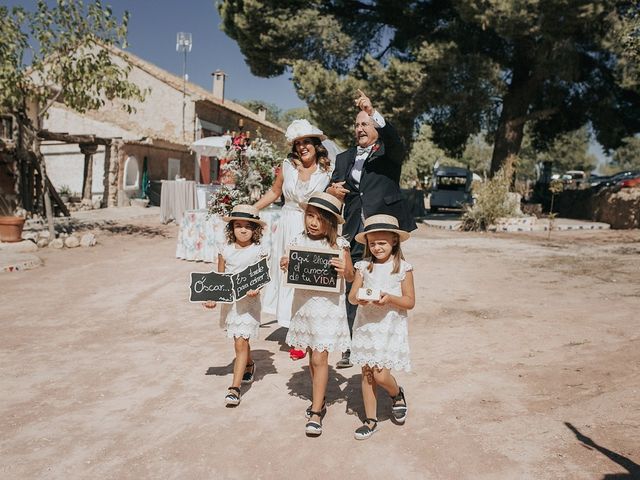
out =
{"type": "MultiPolygon", "coordinates": [[[[248,266],[268,256],[260,246],[262,228],[258,210],[251,205],[236,205],[228,217],[225,233],[227,244],[218,255],[219,273],[239,273],[248,266]]],[[[251,358],[249,340],[258,338],[260,328],[260,290],[249,290],[247,295],[234,303],[223,303],[220,310],[220,326],[227,331],[227,338],[233,338],[235,360],[233,382],[224,401],[227,406],[240,404],[240,385],[253,381],[256,365],[251,358]]],[[[207,309],[216,308],[216,302],[204,303],[207,309]]]]}

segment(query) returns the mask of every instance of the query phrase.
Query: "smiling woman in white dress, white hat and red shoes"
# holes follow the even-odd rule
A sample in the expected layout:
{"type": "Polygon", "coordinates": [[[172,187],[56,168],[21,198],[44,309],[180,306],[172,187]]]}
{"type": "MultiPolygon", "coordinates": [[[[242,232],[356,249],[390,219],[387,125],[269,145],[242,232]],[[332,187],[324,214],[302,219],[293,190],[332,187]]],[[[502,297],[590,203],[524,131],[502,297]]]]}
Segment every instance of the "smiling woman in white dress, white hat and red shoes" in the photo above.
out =
{"type": "MultiPolygon", "coordinates": [[[[284,162],[273,186],[255,203],[259,210],[271,205],[284,194],[284,206],[277,221],[271,242],[270,271],[277,272],[279,259],[285,253],[289,242],[304,231],[304,211],[300,208],[312,192],[324,191],[331,179],[331,162],[327,150],[322,145],[326,136],[322,130],[307,120],[294,120],[287,128],[287,142],[291,144],[291,154],[284,162]]],[[[284,279],[272,273],[272,280],[264,291],[263,307],[276,314],[278,324],[289,327],[293,289],[285,287],[284,279]],[[271,308],[270,308],[271,307],[271,308]]],[[[304,352],[291,349],[293,359],[304,357],[304,352]]]]}

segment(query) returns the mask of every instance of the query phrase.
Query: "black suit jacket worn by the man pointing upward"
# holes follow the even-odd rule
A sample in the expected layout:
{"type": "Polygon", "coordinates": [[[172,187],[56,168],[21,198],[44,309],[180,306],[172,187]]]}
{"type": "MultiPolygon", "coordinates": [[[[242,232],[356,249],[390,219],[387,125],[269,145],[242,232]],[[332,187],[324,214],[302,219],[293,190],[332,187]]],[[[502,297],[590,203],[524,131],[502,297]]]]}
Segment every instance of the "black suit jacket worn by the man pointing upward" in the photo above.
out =
{"type": "Polygon", "coordinates": [[[378,141],[364,162],[360,185],[356,187],[351,169],[356,159],[356,147],[351,147],[336,158],[331,182],[346,181],[349,193],[344,199],[342,234],[353,243],[356,234],[362,231],[361,212],[364,217],[379,213],[393,215],[402,230],[415,230],[416,222],[407,202],[400,193],[400,172],[405,150],[396,129],[386,122],[378,129],[378,141]]]}

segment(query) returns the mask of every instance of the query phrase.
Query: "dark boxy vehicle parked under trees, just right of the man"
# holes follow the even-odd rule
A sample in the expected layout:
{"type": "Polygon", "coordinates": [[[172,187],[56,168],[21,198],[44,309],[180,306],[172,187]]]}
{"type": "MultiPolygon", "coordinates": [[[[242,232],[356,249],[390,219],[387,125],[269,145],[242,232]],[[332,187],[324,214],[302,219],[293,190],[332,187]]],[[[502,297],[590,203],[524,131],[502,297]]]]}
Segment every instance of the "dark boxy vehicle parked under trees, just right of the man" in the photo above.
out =
{"type": "Polygon", "coordinates": [[[472,204],[471,170],[460,167],[438,167],[433,174],[431,197],[429,200],[431,212],[440,208],[463,208],[465,204],[472,204]]]}

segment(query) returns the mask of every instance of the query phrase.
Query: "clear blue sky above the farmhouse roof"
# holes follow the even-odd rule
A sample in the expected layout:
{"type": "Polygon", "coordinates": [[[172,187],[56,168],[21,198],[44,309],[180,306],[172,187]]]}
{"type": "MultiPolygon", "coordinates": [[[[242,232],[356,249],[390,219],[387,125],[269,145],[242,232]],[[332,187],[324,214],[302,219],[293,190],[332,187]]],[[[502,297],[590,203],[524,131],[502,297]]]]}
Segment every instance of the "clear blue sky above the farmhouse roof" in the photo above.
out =
{"type": "MultiPolygon", "coordinates": [[[[35,1],[3,0],[7,6],[32,9],[35,1]]],[[[48,2],[54,3],[54,2],[48,2]]],[[[160,68],[182,75],[183,56],[176,52],[176,33],[190,32],[193,48],[187,56],[189,81],[210,89],[211,72],[220,69],[227,76],[225,96],[238,100],[263,100],[283,110],[304,106],[288,75],[255,77],[235,41],[220,30],[215,0],[104,0],[121,17],[130,14],[129,51],[160,68]]]]}

